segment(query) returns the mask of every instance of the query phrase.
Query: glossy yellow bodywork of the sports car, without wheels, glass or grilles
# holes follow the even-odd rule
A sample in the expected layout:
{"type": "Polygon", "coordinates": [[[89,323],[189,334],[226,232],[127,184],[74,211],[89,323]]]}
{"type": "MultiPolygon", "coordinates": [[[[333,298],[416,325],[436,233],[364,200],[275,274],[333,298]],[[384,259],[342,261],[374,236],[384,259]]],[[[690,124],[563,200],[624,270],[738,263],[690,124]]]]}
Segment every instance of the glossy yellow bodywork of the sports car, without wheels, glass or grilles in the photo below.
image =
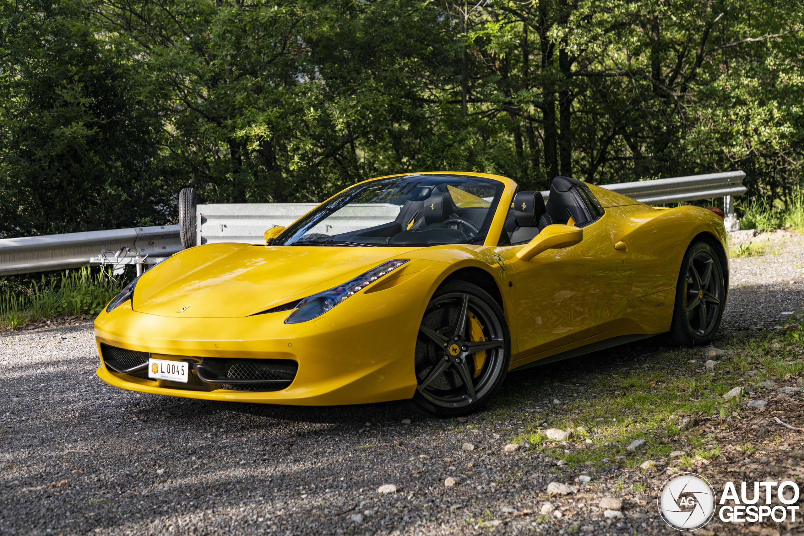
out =
{"type": "MultiPolygon", "coordinates": [[[[416,334],[430,298],[456,272],[493,280],[511,334],[514,369],[623,335],[670,329],[687,246],[707,233],[728,245],[720,218],[699,207],[658,210],[591,186],[605,214],[580,243],[532,260],[525,244],[498,245],[516,190],[504,185],[482,245],[303,247],[213,243],[163,261],[137,282],[133,301],[96,318],[98,376],[110,385],[195,399],[299,405],[409,399],[416,334]],[[622,249],[615,244],[625,243],[622,249]],[[263,313],[343,284],[387,260],[400,268],[311,321],[263,313]],[[197,390],[105,366],[100,345],[154,358],[276,358],[298,363],[280,391],[197,390]]],[[[373,179],[372,179],[373,180],[373,179]]],[[[490,288],[493,293],[494,288],[490,288]]]]}

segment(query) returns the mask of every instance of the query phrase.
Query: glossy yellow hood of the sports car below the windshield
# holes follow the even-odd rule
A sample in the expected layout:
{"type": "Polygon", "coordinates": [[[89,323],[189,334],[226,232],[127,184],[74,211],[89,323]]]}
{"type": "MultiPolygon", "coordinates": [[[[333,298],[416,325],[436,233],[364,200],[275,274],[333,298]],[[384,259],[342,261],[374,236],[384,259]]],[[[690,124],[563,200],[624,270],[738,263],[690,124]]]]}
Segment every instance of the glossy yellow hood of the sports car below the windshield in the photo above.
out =
{"type": "Polygon", "coordinates": [[[133,309],[164,317],[247,317],[332,288],[416,249],[208,244],[145,272],[133,309]]]}

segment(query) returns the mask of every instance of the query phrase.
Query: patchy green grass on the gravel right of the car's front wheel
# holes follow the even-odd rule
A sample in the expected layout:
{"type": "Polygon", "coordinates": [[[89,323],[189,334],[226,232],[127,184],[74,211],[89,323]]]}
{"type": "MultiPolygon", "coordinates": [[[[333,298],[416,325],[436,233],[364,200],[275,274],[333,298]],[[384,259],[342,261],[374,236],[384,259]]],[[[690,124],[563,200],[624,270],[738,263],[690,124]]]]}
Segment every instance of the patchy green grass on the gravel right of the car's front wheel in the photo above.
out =
{"type": "MultiPolygon", "coordinates": [[[[522,385],[509,391],[512,394],[502,405],[527,402],[541,407],[518,415],[523,419],[522,429],[512,433],[509,440],[526,445],[526,452],[542,452],[555,460],[564,460],[569,466],[591,462],[602,467],[617,463],[636,469],[644,460],[667,458],[670,452],[679,449],[685,453],[673,459],[676,468],[691,469],[705,464],[720,456],[716,434],[708,426],[683,431],[679,428],[681,420],[695,417],[710,422],[707,419],[711,419],[717,425],[733,427],[736,419],[742,418],[742,397],[724,399],[727,391],[746,386],[748,380],[761,382],[784,378],[786,374],[802,374],[804,360],[798,350],[804,312],[791,315],[787,328],[781,338],[763,332],[739,343],[721,342],[720,348],[733,353],[715,374],[700,371],[707,358],[696,348],[665,349],[650,363],[640,358],[629,359],[626,368],[617,368],[622,366],[620,363],[615,366],[612,370],[615,374],[589,371],[573,377],[572,374],[581,371],[556,366],[541,376],[541,382],[523,378],[522,385]],[[757,370],[754,378],[746,378],[749,370],[757,370]],[[574,387],[576,380],[583,384],[574,387]],[[570,395],[566,392],[556,395],[556,387],[569,387],[569,393],[574,391],[578,395],[564,399],[570,395]],[[552,403],[554,398],[561,399],[560,405],[552,403]],[[543,402],[539,404],[537,400],[543,402]],[[566,444],[561,444],[544,435],[547,428],[571,429],[573,433],[566,444]],[[592,444],[586,444],[587,439],[592,444]],[[637,439],[646,440],[646,445],[638,452],[628,452],[626,446],[637,439]]],[[[589,367],[599,369],[599,362],[590,363],[589,367]]],[[[496,419],[494,413],[500,411],[504,414],[506,409],[491,411],[489,419],[496,419]]],[[[560,468],[555,470],[559,472],[560,468]]]]}

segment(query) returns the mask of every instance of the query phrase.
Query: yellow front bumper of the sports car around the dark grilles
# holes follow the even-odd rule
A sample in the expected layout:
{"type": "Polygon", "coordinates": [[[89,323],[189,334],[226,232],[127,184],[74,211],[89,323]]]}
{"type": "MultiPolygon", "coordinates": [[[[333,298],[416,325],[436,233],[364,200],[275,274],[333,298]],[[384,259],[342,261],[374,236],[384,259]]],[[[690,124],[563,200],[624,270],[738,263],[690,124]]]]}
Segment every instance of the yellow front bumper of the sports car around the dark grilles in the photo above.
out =
{"type": "MultiPolygon", "coordinates": [[[[439,270],[405,274],[391,288],[363,293],[314,321],[285,324],[289,311],[239,318],[175,318],[138,313],[130,303],[95,321],[100,342],[127,350],[197,358],[276,358],[298,362],[281,391],[186,391],[110,371],[97,375],[130,391],[194,399],[340,405],[409,399],[419,320],[439,270]]],[[[370,289],[369,289],[370,290],[370,289]]]]}

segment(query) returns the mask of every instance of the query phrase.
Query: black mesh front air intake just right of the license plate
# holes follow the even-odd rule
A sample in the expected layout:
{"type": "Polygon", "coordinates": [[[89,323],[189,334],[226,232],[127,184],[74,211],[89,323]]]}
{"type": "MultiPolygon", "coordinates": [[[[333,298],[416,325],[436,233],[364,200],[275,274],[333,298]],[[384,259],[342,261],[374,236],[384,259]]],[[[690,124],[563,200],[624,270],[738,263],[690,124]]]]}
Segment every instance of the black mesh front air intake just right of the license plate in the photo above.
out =
{"type": "Polygon", "coordinates": [[[298,367],[292,359],[203,358],[195,373],[220,389],[281,391],[293,383],[298,367]]]}

